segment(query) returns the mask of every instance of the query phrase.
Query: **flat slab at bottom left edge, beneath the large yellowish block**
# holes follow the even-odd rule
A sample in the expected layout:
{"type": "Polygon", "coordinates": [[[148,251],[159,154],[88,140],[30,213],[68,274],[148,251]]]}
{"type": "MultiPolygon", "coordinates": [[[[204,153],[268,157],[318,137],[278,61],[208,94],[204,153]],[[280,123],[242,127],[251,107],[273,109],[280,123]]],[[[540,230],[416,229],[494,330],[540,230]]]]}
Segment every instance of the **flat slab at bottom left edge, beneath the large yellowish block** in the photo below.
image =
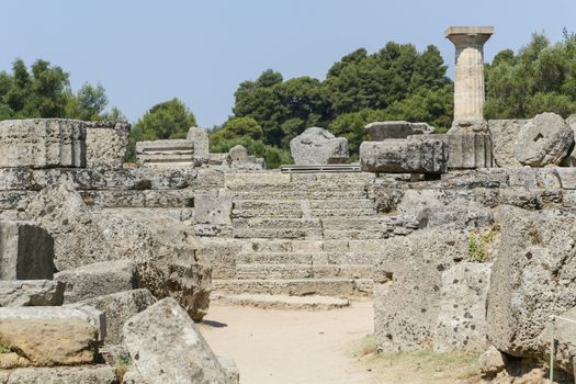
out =
{"type": "MultiPolygon", "coordinates": [[[[1,383],[1,381],[0,381],[1,383]]],[[[117,384],[114,366],[23,368],[10,372],[5,384],[117,384]]],[[[4,384],[4,383],[2,383],[4,384]]],[[[142,383],[140,383],[142,384],[142,383]]]]}

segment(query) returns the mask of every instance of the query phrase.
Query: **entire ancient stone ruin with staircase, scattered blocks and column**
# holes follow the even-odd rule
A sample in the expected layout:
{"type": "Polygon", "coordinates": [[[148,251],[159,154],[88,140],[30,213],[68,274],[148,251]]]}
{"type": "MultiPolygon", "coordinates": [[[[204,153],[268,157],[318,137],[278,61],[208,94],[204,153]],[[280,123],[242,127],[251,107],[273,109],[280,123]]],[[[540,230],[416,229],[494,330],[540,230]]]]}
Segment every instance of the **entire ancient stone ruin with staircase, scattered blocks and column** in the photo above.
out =
{"type": "Polygon", "coordinates": [[[123,124],[0,122],[0,383],[238,383],[194,324],[211,300],[366,297],[382,350],[485,351],[501,377],[550,359],[554,325],[572,377],[576,117],[485,122],[492,33],[447,32],[456,129],[370,124],[360,166],[317,127],[283,172],[244,147],[208,154],[196,127],[125,167],[123,124]]]}

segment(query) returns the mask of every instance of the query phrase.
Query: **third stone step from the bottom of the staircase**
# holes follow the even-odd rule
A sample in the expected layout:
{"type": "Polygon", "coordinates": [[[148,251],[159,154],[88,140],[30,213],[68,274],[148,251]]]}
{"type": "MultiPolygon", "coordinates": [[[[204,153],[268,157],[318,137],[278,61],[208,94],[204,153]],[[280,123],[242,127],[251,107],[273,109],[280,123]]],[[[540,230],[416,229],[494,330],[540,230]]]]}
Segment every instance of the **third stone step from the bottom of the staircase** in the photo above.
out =
{"type": "Polygon", "coordinates": [[[371,264],[237,264],[239,280],[276,280],[276,279],[326,279],[350,278],[370,279],[371,264]]]}

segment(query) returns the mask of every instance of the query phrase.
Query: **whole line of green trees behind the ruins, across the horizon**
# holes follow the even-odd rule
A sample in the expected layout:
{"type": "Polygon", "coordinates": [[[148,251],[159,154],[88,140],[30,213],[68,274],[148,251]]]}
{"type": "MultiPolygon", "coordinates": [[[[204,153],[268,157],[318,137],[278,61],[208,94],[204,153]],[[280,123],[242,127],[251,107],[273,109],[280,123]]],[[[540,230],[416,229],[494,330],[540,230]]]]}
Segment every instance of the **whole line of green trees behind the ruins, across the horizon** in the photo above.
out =
{"type": "MultiPolygon", "coordinates": [[[[319,80],[304,76],[284,79],[264,70],[241,82],[233,114],[210,128],[211,150],[227,151],[237,144],[264,157],[269,168],[290,163],[290,140],[310,126],[348,138],[351,154],[365,139],[364,125],[374,121],[427,122],[445,132],[452,123],[453,83],[438,48],[418,52],[411,44],[387,43],[369,54],[357,49],[336,61],[319,80]]],[[[551,43],[535,33],[513,52],[499,52],[485,65],[486,118],[530,118],[542,112],[564,117],[576,113],[576,36],[564,31],[551,43]]],[[[38,59],[30,68],[16,59],[0,72],[0,120],[67,117],[126,121],[101,84],[84,83],[74,91],[69,74],[38,59]]],[[[193,112],[179,99],[143,111],[131,132],[128,160],[137,140],[184,138],[195,126],[193,112]]]]}

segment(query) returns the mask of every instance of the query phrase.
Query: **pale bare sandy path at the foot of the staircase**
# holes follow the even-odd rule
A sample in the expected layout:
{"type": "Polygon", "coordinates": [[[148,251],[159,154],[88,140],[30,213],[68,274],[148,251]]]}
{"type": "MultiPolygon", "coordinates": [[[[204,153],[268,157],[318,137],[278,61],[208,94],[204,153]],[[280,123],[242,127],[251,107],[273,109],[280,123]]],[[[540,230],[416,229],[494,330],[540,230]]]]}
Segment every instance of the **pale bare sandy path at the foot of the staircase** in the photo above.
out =
{"type": "Polygon", "coordinates": [[[373,332],[372,302],[326,312],[211,305],[200,325],[216,354],[236,361],[241,384],[377,384],[350,346],[373,332]]]}

